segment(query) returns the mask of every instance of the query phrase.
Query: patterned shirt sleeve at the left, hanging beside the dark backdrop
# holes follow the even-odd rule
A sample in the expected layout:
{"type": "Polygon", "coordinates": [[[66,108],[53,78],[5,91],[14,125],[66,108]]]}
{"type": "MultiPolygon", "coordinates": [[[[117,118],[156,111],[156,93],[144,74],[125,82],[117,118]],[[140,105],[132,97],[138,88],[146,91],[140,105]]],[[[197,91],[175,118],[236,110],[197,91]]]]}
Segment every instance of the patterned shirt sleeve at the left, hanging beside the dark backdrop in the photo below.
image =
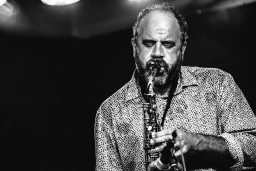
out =
{"type": "Polygon", "coordinates": [[[96,170],[123,170],[113,133],[111,113],[100,108],[94,125],[96,170]]]}

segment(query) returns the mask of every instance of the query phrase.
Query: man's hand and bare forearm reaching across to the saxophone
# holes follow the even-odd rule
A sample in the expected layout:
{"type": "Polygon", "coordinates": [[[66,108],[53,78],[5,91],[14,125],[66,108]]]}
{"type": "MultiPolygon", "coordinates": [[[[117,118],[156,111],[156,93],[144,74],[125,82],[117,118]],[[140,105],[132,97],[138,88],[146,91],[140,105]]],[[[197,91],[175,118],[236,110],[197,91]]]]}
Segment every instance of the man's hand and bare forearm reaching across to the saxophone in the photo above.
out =
{"type": "MultiPolygon", "coordinates": [[[[230,155],[228,145],[222,137],[168,129],[153,132],[150,144],[170,143],[172,141],[177,145],[177,151],[174,155],[179,157],[182,151],[188,169],[209,167],[223,169],[229,168],[235,163],[230,155]]],[[[164,149],[164,145],[157,146],[155,149],[160,152],[164,149]]]]}

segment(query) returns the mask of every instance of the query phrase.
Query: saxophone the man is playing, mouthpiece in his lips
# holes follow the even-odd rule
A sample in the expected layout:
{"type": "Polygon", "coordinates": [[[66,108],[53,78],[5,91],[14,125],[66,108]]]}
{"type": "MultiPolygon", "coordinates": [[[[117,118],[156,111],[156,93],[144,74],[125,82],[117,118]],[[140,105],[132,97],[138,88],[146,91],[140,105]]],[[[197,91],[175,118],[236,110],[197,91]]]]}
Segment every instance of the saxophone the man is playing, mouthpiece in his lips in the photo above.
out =
{"type": "Polygon", "coordinates": [[[157,72],[160,70],[160,66],[154,62],[151,62],[151,74],[149,76],[147,93],[144,94],[146,103],[143,103],[143,121],[144,121],[144,165],[145,170],[148,170],[148,166],[151,162],[156,161],[155,168],[153,170],[175,170],[178,171],[178,162],[173,154],[175,148],[174,142],[167,143],[166,149],[161,153],[155,150],[156,146],[160,144],[151,145],[150,139],[152,132],[158,132],[162,130],[162,126],[159,122],[159,114],[157,114],[156,106],[156,90],[154,87],[154,80],[157,72]]]}

